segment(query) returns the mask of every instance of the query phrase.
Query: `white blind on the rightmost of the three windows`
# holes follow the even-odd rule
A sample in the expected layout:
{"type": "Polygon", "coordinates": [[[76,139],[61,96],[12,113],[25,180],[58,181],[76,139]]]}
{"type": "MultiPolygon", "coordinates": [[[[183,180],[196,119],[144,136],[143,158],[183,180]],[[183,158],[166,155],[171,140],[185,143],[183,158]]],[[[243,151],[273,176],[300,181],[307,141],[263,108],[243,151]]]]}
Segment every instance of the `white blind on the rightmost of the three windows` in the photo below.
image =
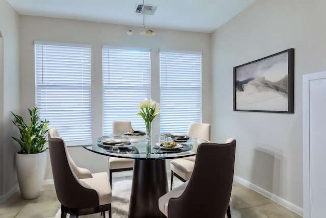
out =
{"type": "Polygon", "coordinates": [[[187,133],[201,122],[201,58],[198,52],[160,51],[160,131],[187,133]]]}

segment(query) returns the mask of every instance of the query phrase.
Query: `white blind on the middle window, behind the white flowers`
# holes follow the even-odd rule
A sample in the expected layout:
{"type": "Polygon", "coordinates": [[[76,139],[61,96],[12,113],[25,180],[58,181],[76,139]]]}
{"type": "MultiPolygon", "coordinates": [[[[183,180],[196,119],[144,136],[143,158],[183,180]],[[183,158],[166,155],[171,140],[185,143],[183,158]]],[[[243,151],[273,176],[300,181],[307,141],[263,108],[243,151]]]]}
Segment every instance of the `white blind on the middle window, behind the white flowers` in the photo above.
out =
{"type": "Polygon", "coordinates": [[[145,130],[138,104],[150,98],[150,50],[103,46],[103,134],[112,134],[114,120],[131,121],[145,130]]]}

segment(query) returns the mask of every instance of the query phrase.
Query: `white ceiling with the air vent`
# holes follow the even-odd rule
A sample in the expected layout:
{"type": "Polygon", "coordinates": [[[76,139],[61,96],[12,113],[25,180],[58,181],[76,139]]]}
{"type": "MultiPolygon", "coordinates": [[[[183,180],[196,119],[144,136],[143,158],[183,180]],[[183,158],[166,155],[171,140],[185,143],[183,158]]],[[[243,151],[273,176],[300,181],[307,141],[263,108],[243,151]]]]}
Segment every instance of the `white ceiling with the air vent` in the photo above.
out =
{"type": "MultiPolygon", "coordinates": [[[[143,26],[135,7],[143,0],[7,0],[21,15],[58,17],[143,26]]],[[[256,0],[145,0],[158,6],[145,15],[145,26],[211,33],[256,0]]]]}

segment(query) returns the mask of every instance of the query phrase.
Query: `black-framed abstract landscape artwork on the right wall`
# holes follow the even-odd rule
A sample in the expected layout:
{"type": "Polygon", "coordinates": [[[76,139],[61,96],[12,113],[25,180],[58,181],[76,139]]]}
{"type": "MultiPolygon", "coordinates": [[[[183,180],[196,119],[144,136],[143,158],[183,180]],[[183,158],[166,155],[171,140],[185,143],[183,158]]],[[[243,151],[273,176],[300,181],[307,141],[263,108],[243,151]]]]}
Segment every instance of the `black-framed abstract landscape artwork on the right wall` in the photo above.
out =
{"type": "Polygon", "coordinates": [[[294,113],[294,49],[233,67],[233,110],[294,113]]]}

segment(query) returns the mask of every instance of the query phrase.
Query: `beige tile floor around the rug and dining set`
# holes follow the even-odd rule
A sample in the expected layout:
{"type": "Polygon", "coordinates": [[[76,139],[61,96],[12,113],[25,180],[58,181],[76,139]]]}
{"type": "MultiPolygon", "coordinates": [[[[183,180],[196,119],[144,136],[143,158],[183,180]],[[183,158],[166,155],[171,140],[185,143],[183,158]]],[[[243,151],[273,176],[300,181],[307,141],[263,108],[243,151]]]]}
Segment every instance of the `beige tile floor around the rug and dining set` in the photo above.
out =
{"type": "MultiPolygon", "coordinates": [[[[131,177],[113,178],[113,182],[124,179],[131,179],[131,177]]],[[[302,218],[237,182],[233,183],[230,205],[232,218],[302,218]]],[[[33,200],[22,199],[20,192],[17,191],[6,202],[0,204],[0,217],[54,218],[59,207],[54,185],[43,185],[40,197],[33,200]]]]}

